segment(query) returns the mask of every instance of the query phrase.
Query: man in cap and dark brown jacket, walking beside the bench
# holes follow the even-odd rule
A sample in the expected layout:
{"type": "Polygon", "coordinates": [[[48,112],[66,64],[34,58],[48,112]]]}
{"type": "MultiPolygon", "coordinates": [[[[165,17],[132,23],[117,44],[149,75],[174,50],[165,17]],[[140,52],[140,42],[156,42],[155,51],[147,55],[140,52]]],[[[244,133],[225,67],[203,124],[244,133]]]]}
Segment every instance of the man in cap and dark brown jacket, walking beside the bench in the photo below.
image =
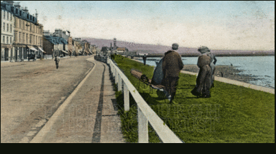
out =
{"type": "Polygon", "coordinates": [[[180,70],[184,68],[181,55],[176,52],[178,47],[178,44],[173,44],[173,50],[165,53],[162,63],[162,70],[164,74],[162,85],[166,87],[166,91],[171,95],[171,103],[173,103],[173,99],[176,94],[180,70]]]}

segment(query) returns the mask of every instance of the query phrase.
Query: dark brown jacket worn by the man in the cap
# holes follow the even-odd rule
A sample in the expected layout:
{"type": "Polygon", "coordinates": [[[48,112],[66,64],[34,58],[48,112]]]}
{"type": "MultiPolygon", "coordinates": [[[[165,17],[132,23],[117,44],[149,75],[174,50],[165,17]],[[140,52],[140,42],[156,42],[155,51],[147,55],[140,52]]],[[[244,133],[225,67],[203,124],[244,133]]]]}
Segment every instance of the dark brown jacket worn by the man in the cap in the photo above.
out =
{"type": "Polygon", "coordinates": [[[178,77],[182,68],[184,68],[184,64],[179,53],[175,51],[168,51],[165,53],[162,64],[164,78],[178,77]]]}

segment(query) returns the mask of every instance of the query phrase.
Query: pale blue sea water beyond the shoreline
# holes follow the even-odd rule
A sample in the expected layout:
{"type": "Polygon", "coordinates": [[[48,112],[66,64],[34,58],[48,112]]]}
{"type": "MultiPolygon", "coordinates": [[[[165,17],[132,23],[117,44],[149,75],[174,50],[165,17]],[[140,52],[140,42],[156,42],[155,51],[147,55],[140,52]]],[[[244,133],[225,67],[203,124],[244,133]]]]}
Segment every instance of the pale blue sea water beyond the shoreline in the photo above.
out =
{"type": "MultiPolygon", "coordinates": [[[[151,58],[160,60],[160,57],[151,58]]],[[[185,64],[197,64],[198,57],[182,57],[185,64]]],[[[147,60],[147,64],[156,66],[155,60],[147,60]]],[[[240,74],[254,76],[255,81],[250,84],[275,88],[275,56],[242,56],[242,57],[216,57],[216,65],[235,66],[243,70],[240,74]]],[[[142,60],[140,60],[142,62],[142,60]]]]}

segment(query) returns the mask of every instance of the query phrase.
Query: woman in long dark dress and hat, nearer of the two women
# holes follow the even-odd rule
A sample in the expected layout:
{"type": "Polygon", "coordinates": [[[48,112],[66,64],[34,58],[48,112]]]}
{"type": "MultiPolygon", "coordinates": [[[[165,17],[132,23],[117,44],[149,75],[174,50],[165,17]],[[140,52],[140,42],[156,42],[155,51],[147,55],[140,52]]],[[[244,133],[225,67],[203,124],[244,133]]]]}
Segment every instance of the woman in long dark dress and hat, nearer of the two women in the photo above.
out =
{"type": "MultiPolygon", "coordinates": [[[[205,48],[199,48],[201,53],[205,53],[205,48]]],[[[207,51],[206,51],[207,52],[207,51]]],[[[207,54],[199,56],[197,66],[199,66],[199,75],[197,76],[197,86],[192,90],[192,94],[199,97],[210,98],[210,87],[212,82],[212,68],[210,67],[211,57],[207,54]]]]}

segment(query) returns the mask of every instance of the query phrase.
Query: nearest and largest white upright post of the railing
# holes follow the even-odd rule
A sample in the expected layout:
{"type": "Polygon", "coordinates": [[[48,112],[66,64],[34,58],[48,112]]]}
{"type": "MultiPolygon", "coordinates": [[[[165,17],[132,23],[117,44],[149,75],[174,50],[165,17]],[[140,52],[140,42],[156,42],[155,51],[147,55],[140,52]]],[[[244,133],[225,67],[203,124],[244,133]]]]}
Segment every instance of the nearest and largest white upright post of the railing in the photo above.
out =
{"type": "Polygon", "coordinates": [[[148,120],[138,107],[138,143],[149,143],[148,120]]]}

